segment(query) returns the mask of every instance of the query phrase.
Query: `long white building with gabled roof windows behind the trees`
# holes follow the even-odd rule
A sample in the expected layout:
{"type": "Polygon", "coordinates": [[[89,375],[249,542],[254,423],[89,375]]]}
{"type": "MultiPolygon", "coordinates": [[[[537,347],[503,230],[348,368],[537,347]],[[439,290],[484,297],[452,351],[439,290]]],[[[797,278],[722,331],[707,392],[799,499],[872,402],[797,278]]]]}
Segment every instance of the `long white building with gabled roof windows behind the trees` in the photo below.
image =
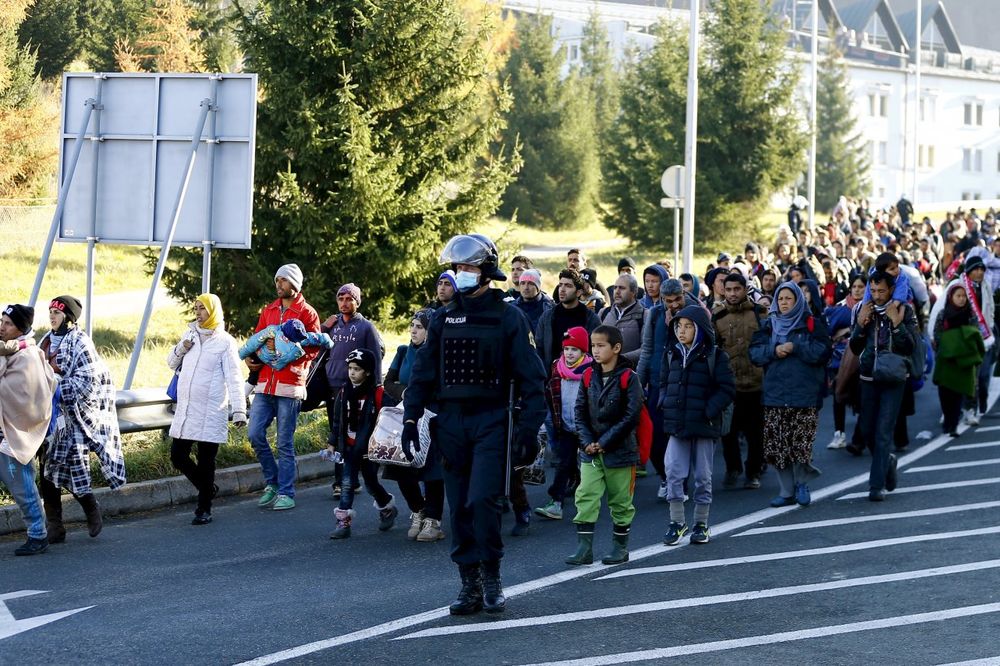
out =
{"type": "MultiPolygon", "coordinates": [[[[789,31],[789,57],[808,53],[812,0],[773,4],[789,31]]],[[[923,0],[919,105],[916,4],[818,0],[820,53],[831,39],[844,52],[858,127],[871,155],[872,189],[866,194],[880,204],[905,193],[922,207],[1000,199],[1000,0],[923,0]]],[[[503,0],[503,5],[515,13],[553,16],[566,71],[579,62],[583,27],[593,11],[605,23],[619,61],[630,49],[652,46],[648,31],[657,21],[689,17],[685,0],[503,0]]],[[[710,11],[710,0],[703,5],[710,11]]],[[[808,85],[805,68],[805,100],[808,85]]]]}

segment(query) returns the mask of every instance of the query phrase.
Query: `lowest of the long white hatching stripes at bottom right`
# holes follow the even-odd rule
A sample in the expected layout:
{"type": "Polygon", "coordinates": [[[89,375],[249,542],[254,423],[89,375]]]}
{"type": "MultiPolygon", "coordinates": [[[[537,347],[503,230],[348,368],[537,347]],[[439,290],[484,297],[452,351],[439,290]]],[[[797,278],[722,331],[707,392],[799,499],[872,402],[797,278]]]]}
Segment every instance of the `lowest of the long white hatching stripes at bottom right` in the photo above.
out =
{"type": "Polygon", "coordinates": [[[932,611],[929,613],[914,613],[912,615],[886,617],[878,620],[867,620],[865,622],[834,624],[825,627],[815,627],[813,629],[782,631],[777,634],[746,636],[744,638],[711,641],[709,643],[689,643],[687,645],[655,648],[652,650],[639,650],[636,652],[619,652],[617,654],[585,657],[583,659],[538,662],[526,666],[605,666],[607,664],[625,664],[636,661],[650,661],[653,659],[668,659],[670,657],[681,657],[690,654],[700,654],[703,652],[737,650],[741,648],[755,647],[758,645],[770,645],[772,643],[788,643],[791,641],[801,641],[810,638],[823,638],[825,636],[837,636],[839,634],[852,634],[859,631],[873,631],[876,629],[889,629],[892,627],[901,627],[911,624],[941,622],[960,617],[986,615],[988,613],[996,613],[998,611],[1000,611],[1000,603],[979,604],[976,606],[963,606],[961,608],[947,608],[945,610],[932,611]]]}

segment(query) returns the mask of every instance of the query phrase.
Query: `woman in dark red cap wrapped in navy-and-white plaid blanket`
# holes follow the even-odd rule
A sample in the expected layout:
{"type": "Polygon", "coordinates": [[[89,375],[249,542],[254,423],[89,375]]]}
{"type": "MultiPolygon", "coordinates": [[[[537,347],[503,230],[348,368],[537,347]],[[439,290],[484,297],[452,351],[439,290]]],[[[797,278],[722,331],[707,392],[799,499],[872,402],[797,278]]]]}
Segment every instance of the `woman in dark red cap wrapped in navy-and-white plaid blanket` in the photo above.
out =
{"type": "Polygon", "coordinates": [[[76,325],[82,310],[80,301],[72,296],[52,299],[52,330],[39,345],[56,373],[58,396],[52,414],[54,430],[40,455],[49,543],[66,539],[61,488],[69,490],[83,507],[90,536],[101,532],[101,508],[90,487],[90,452],[97,455],[112,489],[125,484],[115,386],[93,340],[76,325]]]}

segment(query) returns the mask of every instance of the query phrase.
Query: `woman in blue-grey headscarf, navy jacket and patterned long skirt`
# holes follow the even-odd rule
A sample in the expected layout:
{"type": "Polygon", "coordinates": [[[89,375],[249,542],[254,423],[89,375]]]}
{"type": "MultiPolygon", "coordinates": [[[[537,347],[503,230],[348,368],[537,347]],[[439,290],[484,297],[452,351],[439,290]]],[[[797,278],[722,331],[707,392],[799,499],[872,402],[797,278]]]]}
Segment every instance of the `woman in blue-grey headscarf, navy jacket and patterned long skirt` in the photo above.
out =
{"type": "Polygon", "coordinates": [[[750,344],[750,360],[764,368],[764,457],[778,472],[771,506],[806,506],[812,447],[830,358],[830,334],[814,317],[794,282],[778,287],[770,316],[750,344]]]}

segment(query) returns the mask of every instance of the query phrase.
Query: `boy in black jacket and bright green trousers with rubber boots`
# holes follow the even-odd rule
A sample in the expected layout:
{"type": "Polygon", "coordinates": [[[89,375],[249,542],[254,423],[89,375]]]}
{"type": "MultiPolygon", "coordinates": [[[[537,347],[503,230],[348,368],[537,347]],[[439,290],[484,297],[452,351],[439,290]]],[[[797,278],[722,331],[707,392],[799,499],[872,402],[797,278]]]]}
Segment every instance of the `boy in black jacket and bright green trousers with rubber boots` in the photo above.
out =
{"type": "Polygon", "coordinates": [[[574,417],[580,440],[580,485],[576,489],[577,549],[566,564],[594,561],[594,524],[608,496],[614,523],[611,552],[601,562],[628,562],[628,533],[635,516],[636,428],[643,408],[642,387],[632,364],[621,355],[622,334],[598,326],[590,334],[594,362],[584,371],[574,417]]]}

